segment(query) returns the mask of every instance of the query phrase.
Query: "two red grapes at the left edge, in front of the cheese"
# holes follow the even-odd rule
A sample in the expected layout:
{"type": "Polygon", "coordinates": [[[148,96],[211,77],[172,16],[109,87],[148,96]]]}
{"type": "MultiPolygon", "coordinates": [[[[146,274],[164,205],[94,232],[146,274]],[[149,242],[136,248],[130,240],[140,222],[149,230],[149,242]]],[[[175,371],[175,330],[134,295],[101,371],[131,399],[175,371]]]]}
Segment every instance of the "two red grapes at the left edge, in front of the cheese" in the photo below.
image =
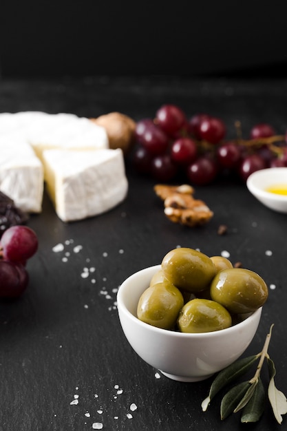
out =
{"type": "Polygon", "coordinates": [[[12,226],[0,240],[0,297],[16,298],[28,286],[25,264],[38,249],[36,233],[26,226],[12,226]]]}

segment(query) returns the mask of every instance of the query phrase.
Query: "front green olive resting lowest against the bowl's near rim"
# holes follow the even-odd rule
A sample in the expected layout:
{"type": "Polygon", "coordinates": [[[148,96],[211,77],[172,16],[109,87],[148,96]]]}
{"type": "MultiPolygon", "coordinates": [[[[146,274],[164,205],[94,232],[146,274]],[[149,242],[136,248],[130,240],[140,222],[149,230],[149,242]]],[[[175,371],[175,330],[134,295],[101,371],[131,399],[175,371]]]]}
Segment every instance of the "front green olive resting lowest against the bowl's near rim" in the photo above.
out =
{"type": "Polygon", "coordinates": [[[178,317],[182,333],[209,333],[229,328],[231,324],[226,308],[210,299],[192,299],[182,307],[178,317]]]}

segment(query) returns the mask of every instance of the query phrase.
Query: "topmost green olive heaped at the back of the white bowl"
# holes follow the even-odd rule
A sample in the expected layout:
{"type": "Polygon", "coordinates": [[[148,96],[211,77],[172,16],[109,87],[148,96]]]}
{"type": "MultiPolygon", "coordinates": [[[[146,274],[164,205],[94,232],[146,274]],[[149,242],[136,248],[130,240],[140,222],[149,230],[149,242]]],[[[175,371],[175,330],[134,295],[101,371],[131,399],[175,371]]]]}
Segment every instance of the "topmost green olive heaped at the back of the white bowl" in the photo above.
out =
{"type": "Polygon", "coordinates": [[[171,283],[191,293],[208,288],[216,273],[210,257],[184,247],[173,249],[164,256],[162,271],[171,283]]]}

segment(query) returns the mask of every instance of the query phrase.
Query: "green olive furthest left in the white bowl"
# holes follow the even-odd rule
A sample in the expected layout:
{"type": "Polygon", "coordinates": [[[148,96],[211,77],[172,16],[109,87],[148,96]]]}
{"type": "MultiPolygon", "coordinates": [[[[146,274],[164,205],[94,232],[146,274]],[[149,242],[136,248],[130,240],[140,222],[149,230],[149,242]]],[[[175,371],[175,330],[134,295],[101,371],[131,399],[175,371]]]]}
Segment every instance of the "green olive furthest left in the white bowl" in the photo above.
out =
{"type": "Polygon", "coordinates": [[[182,294],[170,282],[149,286],[138,301],[137,316],[152,326],[173,329],[184,304],[182,294]]]}

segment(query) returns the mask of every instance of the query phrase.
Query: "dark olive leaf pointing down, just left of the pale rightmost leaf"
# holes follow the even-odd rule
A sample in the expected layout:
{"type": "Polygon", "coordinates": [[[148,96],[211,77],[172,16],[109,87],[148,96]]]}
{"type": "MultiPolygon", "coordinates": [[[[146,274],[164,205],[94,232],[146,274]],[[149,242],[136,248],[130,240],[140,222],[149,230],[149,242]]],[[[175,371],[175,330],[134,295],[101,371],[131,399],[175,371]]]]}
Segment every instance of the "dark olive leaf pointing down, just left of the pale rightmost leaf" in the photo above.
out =
{"type": "Polygon", "coordinates": [[[242,410],[242,423],[257,422],[264,412],[265,407],[265,390],[262,379],[259,378],[251,399],[242,410]]]}

